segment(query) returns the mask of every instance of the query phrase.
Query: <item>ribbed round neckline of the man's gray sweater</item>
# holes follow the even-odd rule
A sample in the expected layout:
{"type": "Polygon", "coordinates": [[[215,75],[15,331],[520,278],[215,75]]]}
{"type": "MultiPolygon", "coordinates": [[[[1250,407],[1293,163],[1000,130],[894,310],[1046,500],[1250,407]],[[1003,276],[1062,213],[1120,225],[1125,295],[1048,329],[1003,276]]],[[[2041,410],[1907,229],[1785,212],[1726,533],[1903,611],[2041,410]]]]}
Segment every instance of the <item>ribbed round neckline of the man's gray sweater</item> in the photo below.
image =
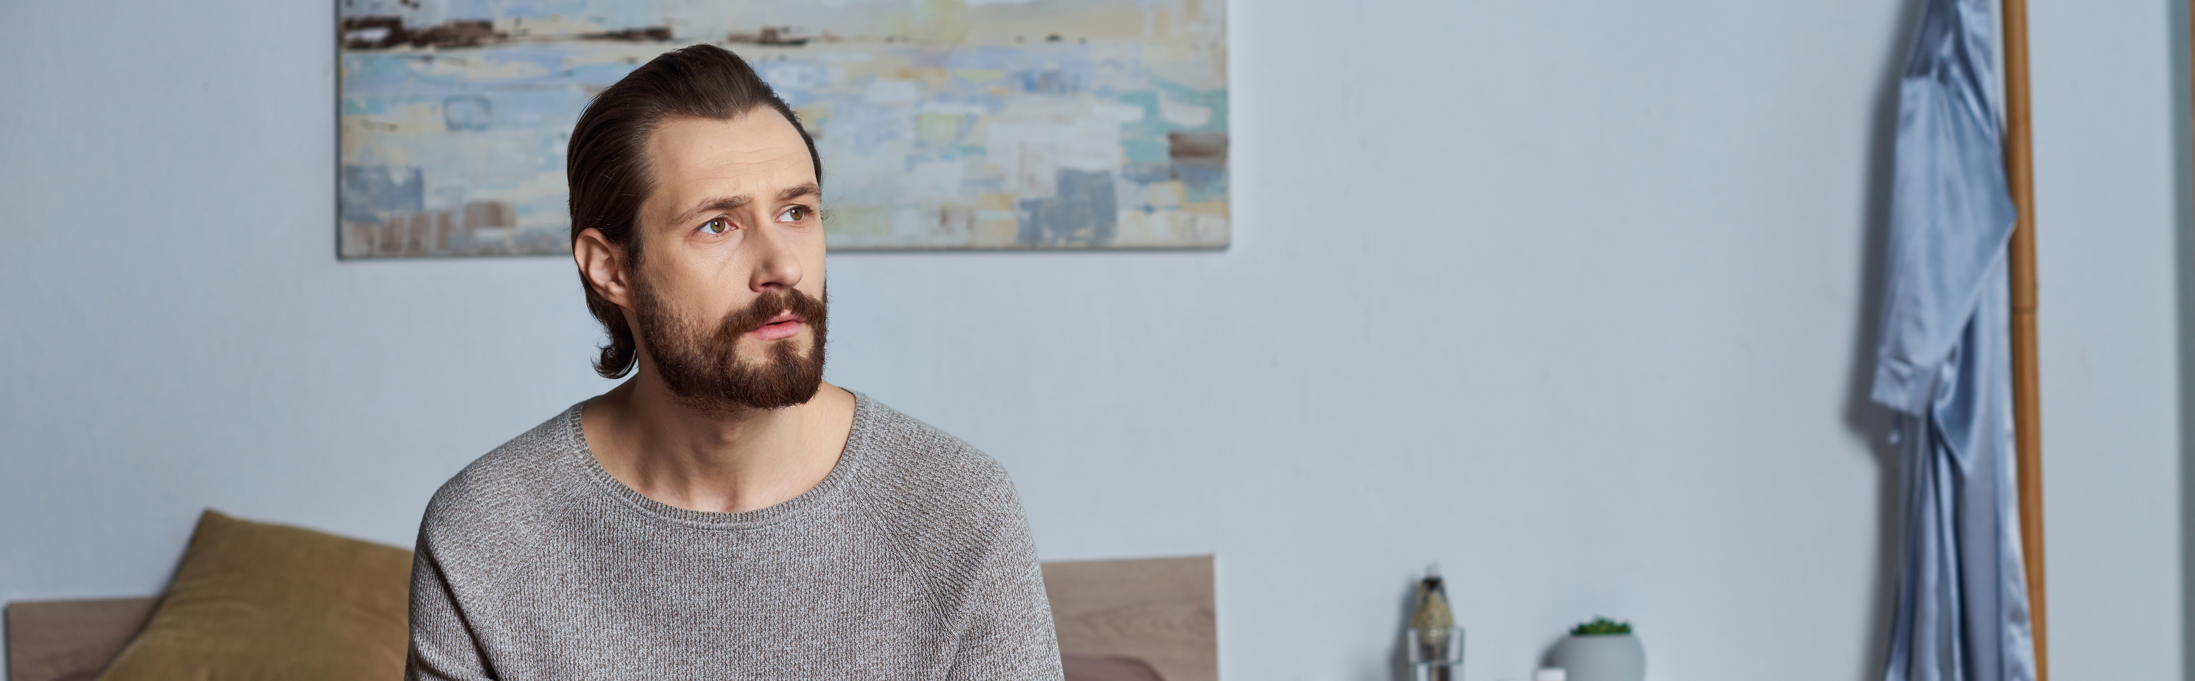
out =
{"type": "Polygon", "coordinates": [[[639,490],[619,481],[615,475],[610,475],[608,468],[601,468],[601,461],[595,459],[595,450],[586,446],[586,428],[579,424],[579,411],[586,409],[586,400],[579,400],[579,404],[573,404],[571,409],[564,411],[564,428],[562,428],[566,437],[564,450],[575,455],[577,459],[575,464],[582,468],[586,479],[590,479],[597,488],[601,488],[610,496],[617,496],[617,501],[623,501],[634,512],[641,512],[643,516],[654,516],[661,521],[696,529],[762,529],[768,525],[797,518],[819,505],[834,501],[838,492],[847,485],[852,477],[849,470],[860,461],[860,453],[865,450],[863,444],[867,442],[869,422],[874,420],[876,411],[876,404],[869,400],[869,395],[863,395],[858,391],[847,391],[847,393],[854,395],[854,428],[847,433],[845,448],[838,450],[838,461],[832,464],[830,475],[823,475],[823,481],[819,481],[814,488],[808,488],[808,492],[748,512],[727,514],[727,512],[685,510],[663,501],[648,499],[648,494],[641,494],[639,490]]]}

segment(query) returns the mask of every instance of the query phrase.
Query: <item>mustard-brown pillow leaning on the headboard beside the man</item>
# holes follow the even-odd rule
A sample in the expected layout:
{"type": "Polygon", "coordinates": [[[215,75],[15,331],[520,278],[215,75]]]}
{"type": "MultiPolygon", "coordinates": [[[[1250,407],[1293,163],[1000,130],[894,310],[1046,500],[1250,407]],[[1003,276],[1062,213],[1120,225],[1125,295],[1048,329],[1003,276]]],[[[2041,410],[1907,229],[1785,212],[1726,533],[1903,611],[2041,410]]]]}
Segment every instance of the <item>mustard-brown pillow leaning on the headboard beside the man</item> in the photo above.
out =
{"type": "Polygon", "coordinates": [[[101,681],[402,679],[410,551],[206,510],[101,681]]]}

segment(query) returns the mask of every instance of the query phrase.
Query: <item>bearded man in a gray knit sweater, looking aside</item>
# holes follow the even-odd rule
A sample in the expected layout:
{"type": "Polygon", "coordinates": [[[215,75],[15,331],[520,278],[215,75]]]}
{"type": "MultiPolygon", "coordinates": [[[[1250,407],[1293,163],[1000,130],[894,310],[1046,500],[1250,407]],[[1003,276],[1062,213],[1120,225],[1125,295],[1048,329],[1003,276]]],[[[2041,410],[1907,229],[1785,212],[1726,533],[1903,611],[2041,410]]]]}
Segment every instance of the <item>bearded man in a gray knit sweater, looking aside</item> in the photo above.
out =
{"type": "Polygon", "coordinates": [[[1060,679],[990,457],[823,382],[814,143],[740,57],[648,62],[579,116],[573,259],[632,371],[450,479],[410,679],[1060,679]]]}

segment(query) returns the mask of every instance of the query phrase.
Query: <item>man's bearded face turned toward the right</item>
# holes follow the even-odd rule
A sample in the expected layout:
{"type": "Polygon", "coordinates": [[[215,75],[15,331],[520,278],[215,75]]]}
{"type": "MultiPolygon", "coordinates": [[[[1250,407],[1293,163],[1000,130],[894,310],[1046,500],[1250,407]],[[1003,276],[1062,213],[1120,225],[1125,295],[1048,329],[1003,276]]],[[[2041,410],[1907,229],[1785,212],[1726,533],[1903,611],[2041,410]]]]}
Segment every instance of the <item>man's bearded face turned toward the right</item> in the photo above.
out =
{"type": "Polygon", "coordinates": [[[663,382],[702,411],[808,402],[823,380],[821,200],[786,116],[667,119],[634,224],[632,327],[663,382]]]}

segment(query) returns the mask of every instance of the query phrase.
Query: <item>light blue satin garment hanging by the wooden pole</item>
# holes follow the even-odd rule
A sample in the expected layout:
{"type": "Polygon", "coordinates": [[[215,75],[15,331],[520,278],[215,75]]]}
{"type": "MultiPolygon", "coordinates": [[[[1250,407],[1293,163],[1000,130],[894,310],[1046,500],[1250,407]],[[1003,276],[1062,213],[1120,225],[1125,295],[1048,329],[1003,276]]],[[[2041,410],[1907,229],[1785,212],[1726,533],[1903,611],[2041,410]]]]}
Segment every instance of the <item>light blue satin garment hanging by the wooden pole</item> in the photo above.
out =
{"type": "Polygon", "coordinates": [[[2013,202],[1991,0],[1925,0],[1899,81],[1875,402],[1894,409],[1905,540],[1886,681],[2030,681],[2013,485],[2013,202]]]}

